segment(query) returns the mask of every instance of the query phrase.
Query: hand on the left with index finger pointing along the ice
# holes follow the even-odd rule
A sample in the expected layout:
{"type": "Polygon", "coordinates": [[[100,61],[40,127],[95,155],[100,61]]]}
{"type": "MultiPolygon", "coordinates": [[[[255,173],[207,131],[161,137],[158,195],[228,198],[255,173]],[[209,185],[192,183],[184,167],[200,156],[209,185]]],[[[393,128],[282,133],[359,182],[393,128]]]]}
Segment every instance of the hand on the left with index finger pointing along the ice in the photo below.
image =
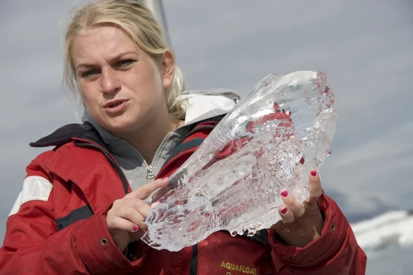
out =
{"type": "Polygon", "coordinates": [[[116,246],[124,252],[129,243],[140,240],[147,226],[142,221],[147,216],[151,206],[144,199],[158,188],[168,184],[168,179],[157,179],[125,195],[123,199],[114,201],[107,212],[106,225],[116,246]]]}

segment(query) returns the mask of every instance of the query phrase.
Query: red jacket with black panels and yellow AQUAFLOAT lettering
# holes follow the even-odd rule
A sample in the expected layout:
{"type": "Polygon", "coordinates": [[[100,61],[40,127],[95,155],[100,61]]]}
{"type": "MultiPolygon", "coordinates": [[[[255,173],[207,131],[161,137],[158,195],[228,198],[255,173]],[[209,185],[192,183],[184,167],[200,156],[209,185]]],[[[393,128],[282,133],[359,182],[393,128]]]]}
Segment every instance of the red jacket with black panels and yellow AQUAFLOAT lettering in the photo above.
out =
{"type": "MultiPolygon", "coordinates": [[[[158,177],[171,175],[215,122],[198,124],[158,177]],[[201,127],[201,128],[198,128],[201,127]],[[190,145],[190,146],[189,146],[190,145]]],[[[271,230],[253,237],[215,232],[180,252],[138,241],[116,248],[105,215],[130,192],[122,169],[92,126],[71,124],[32,146],[56,146],[27,167],[23,191],[7,221],[0,275],[25,274],[364,274],[366,254],[337,204],[323,195],[321,237],[306,248],[282,244],[271,230]]]]}

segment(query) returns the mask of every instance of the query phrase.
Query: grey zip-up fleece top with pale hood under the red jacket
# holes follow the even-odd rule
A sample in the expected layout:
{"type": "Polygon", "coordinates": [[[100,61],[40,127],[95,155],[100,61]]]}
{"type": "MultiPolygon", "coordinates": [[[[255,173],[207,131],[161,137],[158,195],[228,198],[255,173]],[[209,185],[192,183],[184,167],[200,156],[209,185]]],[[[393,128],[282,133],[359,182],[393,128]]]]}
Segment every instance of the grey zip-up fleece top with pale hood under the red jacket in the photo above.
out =
{"type": "Polygon", "coordinates": [[[165,164],[181,137],[189,131],[193,124],[227,113],[240,100],[240,96],[233,91],[215,89],[186,92],[182,99],[185,99],[186,102],[185,123],[164,138],[151,164],[147,164],[142,155],[129,142],[113,135],[109,130],[97,124],[85,110],[83,121],[92,123],[97,129],[109,152],[125,173],[132,190],[136,190],[153,180],[147,179],[149,174],[153,173],[153,176],[156,176],[159,173],[160,168],[165,164]]]}

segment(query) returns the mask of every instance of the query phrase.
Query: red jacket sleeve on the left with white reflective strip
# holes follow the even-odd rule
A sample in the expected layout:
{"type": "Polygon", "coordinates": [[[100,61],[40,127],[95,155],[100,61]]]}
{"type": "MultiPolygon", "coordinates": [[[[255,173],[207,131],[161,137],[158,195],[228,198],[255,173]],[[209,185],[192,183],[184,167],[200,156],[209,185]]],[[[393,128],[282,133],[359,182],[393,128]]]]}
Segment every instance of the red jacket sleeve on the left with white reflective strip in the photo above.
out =
{"type": "Polygon", "coordinates": [[[29,164],[8,217],[0,275],[127,274],[141,265],[143,250],[129,261],[114,244],[105,219],[110,206],[57,232],[52,180],[42,158],[47,152],[29,164]]]}

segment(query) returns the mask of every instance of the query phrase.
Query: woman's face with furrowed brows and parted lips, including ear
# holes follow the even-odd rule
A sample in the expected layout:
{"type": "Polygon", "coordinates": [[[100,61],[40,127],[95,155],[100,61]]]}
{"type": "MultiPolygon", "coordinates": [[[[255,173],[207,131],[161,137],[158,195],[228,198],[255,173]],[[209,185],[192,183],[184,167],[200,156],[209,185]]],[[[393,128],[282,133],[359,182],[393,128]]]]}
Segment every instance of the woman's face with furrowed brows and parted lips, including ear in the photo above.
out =
{"type": "Polygon", "coordinates": [[[173,57],[162,72],[125,32],[102,26],[76,37],[72,48],[76,81],[92,118],[113,133],[140,129],[165,114],[163,91],[173,81],[173,57]]]}

